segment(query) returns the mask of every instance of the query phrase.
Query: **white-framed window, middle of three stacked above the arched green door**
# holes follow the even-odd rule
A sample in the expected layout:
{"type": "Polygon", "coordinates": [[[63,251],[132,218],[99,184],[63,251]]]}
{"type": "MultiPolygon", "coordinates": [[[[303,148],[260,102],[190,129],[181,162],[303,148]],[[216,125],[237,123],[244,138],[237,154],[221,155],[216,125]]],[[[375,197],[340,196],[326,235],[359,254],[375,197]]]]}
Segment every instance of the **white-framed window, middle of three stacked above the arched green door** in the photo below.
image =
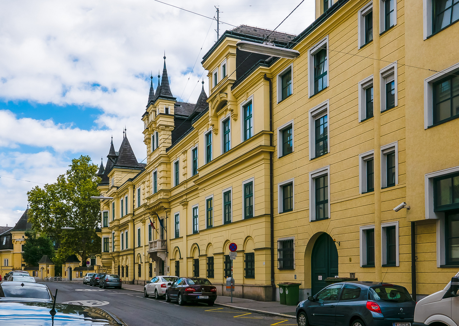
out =
{"type": "Polygon", "coordinates": [[[330,152],[328,99],[309,110],[309,160],[330,152]]]}

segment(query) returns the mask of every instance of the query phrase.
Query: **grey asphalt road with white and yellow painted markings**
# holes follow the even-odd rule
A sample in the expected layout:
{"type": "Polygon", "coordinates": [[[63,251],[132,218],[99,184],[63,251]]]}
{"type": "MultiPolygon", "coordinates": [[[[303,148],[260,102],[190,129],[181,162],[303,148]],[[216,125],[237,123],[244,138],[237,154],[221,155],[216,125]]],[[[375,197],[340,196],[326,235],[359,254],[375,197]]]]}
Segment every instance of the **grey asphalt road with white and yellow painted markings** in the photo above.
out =
{"type": "Polygon", "coordinates": [[[99,289],[83,283],[46,282],[52,293],[57,292],[57,303],[99,306],[123,319],[129,326],[226,326],[226,325],[297,325],[295,319],[248,313],[242,309],[218,305],[191,303],[179,306],[174,301],[144,298],[143,293],[128,289],[99,289]],[[84,302],[83,302],[84,301],[84,302]]]}

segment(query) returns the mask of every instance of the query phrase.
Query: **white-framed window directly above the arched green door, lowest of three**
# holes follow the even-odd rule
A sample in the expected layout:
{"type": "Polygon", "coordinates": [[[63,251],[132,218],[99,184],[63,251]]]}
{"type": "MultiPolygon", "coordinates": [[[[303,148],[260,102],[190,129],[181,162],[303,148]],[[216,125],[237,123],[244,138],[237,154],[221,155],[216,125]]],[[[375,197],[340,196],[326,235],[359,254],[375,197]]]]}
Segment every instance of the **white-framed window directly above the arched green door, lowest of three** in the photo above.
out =
{"type": "Polygon", "coordinates": [[[330,166],[309,172],[309,221],[330,218],[330,166]]]}

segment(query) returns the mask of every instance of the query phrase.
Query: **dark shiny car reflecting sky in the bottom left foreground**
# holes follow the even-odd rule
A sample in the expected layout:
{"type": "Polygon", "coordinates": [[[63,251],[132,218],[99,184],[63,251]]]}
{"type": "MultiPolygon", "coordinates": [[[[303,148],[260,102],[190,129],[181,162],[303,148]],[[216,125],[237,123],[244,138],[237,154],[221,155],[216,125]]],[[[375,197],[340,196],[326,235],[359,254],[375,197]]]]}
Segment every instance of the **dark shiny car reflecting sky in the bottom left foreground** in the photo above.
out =
{"type": "Polygon", "coordinates": [[[54,317],[50,314],[52,308],[52,302],[0,302],[0,326],[128,326],[121,318],[97,307],[56,304],[54,317]]]}

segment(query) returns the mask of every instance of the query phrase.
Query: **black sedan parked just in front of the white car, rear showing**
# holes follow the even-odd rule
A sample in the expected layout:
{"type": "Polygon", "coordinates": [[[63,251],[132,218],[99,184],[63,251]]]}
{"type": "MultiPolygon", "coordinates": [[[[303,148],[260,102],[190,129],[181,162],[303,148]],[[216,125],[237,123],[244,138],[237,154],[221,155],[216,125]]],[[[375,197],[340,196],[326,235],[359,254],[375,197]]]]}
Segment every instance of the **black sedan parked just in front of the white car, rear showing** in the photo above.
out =
{"type": "Polygon", "coordinates": [[[216,299],[217,288],[207,278],[180,277],[166,289],[166,301],[177,300],[181,306],[190,301],[213,306],[216,299]]]}

